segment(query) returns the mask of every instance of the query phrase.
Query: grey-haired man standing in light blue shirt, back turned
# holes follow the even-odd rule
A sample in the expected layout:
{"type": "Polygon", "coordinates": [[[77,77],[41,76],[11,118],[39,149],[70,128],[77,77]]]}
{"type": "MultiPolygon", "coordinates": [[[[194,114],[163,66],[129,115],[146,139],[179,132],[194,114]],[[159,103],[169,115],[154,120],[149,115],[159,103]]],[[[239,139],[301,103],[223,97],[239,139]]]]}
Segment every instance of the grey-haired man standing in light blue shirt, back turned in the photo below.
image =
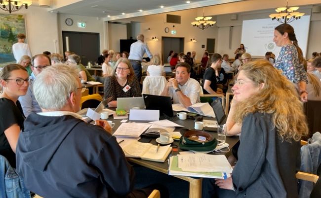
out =
{"type": "Polygon", "coordinates": [[[152,53],[148,49],[147,45],[144,43],[144,35],[140,34],[137,36],[137,40],[135,43],[130,45],[130,52],[129,52],[129,61],[130,64],[133,66],[135,75],[140,82],[142,78],[142,61],[143,55],[146,53],[149,58],[153,58],[152,53]]]}

